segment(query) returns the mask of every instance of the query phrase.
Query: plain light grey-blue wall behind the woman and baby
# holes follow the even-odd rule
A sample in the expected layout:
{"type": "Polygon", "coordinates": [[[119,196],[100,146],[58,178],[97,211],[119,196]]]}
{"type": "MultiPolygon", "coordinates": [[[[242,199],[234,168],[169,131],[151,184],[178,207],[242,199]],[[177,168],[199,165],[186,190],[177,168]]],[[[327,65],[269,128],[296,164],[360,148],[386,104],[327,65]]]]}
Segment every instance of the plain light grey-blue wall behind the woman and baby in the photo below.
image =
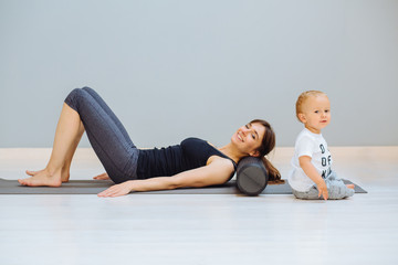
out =
{"type": "Polygon", "coordinates": [[[329,95],[331,146],[398,145],[395,0],[1,0],[0,38],[0,147],[51,147],[82,86],[140,147],[224,145],[258,117],[293,146],[306,89],[329,95]]]}

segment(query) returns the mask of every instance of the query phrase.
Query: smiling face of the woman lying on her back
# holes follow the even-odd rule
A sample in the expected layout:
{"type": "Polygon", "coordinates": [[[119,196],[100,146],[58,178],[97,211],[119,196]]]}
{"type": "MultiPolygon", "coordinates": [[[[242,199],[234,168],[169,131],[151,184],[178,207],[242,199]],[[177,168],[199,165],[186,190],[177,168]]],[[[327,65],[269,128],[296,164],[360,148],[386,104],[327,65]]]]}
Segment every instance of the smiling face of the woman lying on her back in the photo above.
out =
{"type": "Polygon", "coordinates": [[[262,144],[262,139],[265,134],[265,127],[261,124],[247,124],[240,127],[237,132],[233,134],[231,141],[242,152],[256,157],[259,156],[259,147],[262,144]]]}

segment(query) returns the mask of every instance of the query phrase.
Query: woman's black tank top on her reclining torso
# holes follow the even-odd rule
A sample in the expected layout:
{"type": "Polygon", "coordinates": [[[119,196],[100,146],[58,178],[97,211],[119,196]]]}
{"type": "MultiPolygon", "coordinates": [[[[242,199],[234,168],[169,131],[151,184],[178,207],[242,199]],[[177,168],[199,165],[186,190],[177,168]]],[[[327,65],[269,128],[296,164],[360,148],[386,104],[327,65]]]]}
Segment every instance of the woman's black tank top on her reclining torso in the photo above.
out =
{"type": "Polygon", "coordinates": [[[211,156],[230,159],[234,170],[237,170],[237,165],[231,158],[220,152],[207,141],[198,138],[187,138],[181,141],[180,145],[169,146],[167,148],[140,149],[137,163],[137,178],[167,177],[203,167],[211,156]]]}

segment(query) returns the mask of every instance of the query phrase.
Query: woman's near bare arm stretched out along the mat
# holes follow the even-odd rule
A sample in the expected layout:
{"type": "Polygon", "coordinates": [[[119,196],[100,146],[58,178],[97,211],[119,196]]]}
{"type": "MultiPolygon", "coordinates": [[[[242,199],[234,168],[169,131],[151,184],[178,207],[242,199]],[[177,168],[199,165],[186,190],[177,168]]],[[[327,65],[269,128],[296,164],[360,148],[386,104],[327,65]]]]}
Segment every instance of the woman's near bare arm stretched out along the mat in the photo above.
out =
{"type": "Polygon", "coordinates": [[[157,177],[145,180],[128,180],[112,186],[98,197],[118,197],[130,191],[172,190],[186,187],[206,187],[224,183],[233,172],[233,165],[227,159],[213,159],[211,163],[188,170],[172,177],[157,177]]]}

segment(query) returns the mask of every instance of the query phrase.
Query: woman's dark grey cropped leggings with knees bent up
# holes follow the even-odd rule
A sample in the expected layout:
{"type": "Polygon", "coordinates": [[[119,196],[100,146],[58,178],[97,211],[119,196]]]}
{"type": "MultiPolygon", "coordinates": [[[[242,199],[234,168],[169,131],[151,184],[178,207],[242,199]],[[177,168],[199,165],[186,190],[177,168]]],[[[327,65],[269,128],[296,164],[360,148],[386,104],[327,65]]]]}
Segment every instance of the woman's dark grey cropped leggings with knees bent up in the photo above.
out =
{"type": "Polygon", "coordinates": [[[65,103],[78,113],[90,144],[109,178],[115,183],[136,179],[139,150],[101,96],[90,87],[75,88],[65,103]]]}

